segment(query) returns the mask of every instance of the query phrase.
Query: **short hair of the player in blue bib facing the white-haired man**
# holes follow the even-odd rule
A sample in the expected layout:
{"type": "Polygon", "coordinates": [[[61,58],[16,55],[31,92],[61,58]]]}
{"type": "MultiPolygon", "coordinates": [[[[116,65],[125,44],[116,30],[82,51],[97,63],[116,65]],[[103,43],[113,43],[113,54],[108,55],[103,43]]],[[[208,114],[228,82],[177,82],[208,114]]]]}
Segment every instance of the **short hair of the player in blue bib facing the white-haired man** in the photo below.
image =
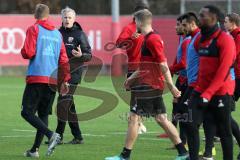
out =
{"type": "Polygon", "coordinates": [[[49,7],[45,4],[37,4],[35,8],[34,17],[36,19],[43,19],[49,16],[49,7]]]}

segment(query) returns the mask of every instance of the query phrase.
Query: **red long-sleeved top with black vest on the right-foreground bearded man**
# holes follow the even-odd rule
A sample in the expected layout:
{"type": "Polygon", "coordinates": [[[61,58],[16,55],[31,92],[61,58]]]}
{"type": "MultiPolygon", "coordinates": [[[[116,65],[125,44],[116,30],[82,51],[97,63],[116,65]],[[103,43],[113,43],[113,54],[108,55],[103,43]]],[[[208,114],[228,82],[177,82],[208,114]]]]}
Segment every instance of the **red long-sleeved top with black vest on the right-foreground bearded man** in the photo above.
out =
{"type": "Polygon", "coordinates": [[[220,29],[207,39],[201,37],[194,43],[200,55],[195,90],[208,100],[214,95],[233,95],[235,81],[230,73],[236,57],[233,38],[220,29]]]}

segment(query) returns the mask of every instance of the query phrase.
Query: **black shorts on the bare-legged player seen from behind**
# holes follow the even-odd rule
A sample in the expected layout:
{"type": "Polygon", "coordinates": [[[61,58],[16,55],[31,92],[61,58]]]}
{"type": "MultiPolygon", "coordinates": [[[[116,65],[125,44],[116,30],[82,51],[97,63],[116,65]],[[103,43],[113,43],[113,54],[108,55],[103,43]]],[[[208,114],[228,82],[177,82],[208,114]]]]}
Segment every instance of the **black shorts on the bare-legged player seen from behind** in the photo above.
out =
{"type": "Polygon", "coordinates": [[[131,107],[131,112],[143,117],[155,117],[166,113],[163,102],[163,91],[153,89],[148,85],[135,87],[132,91],[135,96],[136,105],[131,107]]]}

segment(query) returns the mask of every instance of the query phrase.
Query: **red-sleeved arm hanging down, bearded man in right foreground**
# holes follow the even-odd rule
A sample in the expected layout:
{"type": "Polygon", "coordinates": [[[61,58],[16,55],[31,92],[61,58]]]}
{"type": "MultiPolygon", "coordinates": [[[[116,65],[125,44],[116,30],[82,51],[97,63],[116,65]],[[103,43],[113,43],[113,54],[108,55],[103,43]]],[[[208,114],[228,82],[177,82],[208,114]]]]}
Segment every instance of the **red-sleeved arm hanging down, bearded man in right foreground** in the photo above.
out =
{"type": "Polygon", "coordinates": [[[220,87],[224,84],[226,78],[230,73],[230,68],[236,57],[235,43],[229,35],[224,35],[224,37],[219,37],[219,67],[216,71],[208,88],[202,93],[201,97],[211,100],[212,96],[220,87]]]}

